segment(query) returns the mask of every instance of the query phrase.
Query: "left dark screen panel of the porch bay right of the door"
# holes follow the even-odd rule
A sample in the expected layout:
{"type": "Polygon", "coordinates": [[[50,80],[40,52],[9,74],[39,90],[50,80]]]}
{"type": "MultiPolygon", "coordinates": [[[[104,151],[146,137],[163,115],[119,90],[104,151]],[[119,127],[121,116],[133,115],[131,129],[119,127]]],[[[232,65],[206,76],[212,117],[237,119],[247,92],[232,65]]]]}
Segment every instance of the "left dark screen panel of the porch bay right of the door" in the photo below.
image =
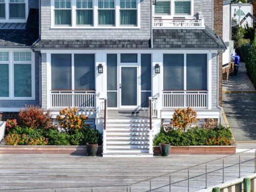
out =
{"type": "Polygon", "coordinates": [[[163,55],[163,89],[184,90],[184,55],[163,55]]]}

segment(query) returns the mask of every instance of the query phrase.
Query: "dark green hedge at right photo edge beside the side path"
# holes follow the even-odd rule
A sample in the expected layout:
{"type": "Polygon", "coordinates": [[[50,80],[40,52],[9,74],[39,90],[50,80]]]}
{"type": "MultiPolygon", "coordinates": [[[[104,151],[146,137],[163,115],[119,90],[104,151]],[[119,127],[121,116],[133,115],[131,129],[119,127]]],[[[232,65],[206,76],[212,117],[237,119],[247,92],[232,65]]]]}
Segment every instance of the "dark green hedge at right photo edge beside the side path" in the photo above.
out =
{"type": "MultiPolygon", "coordinates": [[[[256,32],[255,32],[256,34],[256,32]]],[[[256,87],[256,35],[246,56],[246,69],[251,81],[256,87]]]]}

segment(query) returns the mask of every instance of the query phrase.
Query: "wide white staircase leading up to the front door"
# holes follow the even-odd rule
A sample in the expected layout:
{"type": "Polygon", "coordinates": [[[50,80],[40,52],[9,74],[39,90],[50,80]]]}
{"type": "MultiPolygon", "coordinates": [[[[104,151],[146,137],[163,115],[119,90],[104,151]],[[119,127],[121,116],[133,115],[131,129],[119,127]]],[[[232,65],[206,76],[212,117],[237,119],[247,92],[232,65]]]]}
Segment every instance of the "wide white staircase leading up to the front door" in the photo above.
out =
{"type": "Polygon", "coordinates": [[[103,157],[153,157],[149,119],[108,119],[103,131],[103,157]]]}

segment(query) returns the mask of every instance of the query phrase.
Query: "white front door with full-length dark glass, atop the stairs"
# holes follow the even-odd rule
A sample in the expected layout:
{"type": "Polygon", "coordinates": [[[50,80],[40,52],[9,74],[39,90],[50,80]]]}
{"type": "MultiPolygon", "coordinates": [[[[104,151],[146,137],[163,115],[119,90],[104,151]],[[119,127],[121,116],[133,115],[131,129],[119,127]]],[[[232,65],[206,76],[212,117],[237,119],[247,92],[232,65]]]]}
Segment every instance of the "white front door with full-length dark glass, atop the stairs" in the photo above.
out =
{"type": "Polygon", "coordinates": [[[138,106],[138,66],[120,66],[120,108],[134,109],[138,106]]]}

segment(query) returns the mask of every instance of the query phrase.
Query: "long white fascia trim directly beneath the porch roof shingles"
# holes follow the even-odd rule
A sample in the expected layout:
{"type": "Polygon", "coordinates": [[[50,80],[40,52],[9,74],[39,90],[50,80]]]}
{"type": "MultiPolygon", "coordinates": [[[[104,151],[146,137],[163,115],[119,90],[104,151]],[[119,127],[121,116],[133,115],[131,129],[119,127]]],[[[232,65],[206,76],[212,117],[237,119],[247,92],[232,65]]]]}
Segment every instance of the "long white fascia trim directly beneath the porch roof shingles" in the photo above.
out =
{"type": "Polygon", "coordinates": [[[161,50],[161,49],[42,49],[41,53],[159,53],[159,54],[207,54],[218,53],[218,50],[161,50]]]}

